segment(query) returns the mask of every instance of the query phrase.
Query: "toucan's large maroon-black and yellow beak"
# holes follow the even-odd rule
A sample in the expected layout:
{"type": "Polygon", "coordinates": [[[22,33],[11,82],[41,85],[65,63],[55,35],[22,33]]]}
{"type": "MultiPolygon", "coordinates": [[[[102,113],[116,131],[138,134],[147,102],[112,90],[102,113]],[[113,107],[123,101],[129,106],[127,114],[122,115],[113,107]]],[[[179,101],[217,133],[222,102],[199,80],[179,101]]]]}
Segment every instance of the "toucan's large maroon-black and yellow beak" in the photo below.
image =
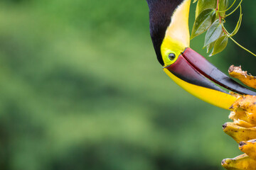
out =
{"type": "Polygon", "coordinates": [[[256,96],[254,91],[246,89],[220,72],[218,68],[189,47],[181,53],[174,64],[164,67],[164,71],[189,93],[220,108],[229,109],[236,98],[215,84],[238,94],[256,96]]]}

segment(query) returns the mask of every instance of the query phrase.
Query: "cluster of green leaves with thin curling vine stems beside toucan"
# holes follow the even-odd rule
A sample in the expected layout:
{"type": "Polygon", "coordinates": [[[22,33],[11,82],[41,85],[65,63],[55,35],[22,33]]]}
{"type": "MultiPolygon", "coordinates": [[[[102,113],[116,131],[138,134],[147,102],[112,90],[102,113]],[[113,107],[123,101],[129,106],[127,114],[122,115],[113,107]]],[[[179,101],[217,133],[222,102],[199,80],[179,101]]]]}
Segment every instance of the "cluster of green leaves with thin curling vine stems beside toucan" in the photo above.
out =
{"type": "MultiPolygon", "coordinates": [[[[232,37],[238,33],[238,30],[242,22],[242,0],[236,3],[236,0],[228,6],[228,0],[194,0],[197,2],[196,6],[196,20],[193,24],[191,33],[191,39],[206,32],[206,38],[203,48],[206,47],[207,52],[210,52],[209,56],[216,55],[222,52],[228,45],[228,39],[230,38],[237,45],[238,44],[232,37]],[[230,13],[227,14],[232,9],[230,13]],[[225,28],[225,18],[233,14],[235,11],[240,10],[240,17],[235,29],[232,33],[229,33],[225,28]]],[[[245,47],[242,47],[244,50],[245,47]]],[[[247,50],[247,52],[250,52],[247,50]]],[[[252,52],[250,52],[254,55],[252,52]]]]}

